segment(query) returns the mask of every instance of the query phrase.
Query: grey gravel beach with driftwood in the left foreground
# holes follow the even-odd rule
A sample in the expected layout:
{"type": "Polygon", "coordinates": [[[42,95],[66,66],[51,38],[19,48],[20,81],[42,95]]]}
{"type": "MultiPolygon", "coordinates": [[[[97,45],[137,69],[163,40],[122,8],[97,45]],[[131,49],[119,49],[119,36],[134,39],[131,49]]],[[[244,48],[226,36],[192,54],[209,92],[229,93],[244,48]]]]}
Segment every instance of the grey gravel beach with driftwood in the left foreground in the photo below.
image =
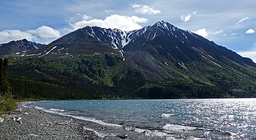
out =
{"type": "Polygon", "coordinates": [[[0,140],[99,140],[95,132],[84,130],[90,123],[24,108],[0,116],[0,140]],[[13,118],[15,121],[13,121],[13,118]],[[17,118],[21,118],[17,122],[17,118]],[[67,121],[67,124],[61,124],[67,121]]]}

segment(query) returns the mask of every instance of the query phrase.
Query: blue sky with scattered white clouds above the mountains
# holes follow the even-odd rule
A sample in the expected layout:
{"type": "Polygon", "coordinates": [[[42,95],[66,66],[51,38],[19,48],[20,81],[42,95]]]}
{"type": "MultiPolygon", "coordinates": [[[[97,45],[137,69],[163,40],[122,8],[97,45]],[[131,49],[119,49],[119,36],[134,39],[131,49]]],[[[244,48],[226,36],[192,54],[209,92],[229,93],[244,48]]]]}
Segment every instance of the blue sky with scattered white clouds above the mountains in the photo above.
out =
{"type": "Polygon", "coordinates": [[[48,44],[87,25],[131,31],[161,20],[256,62],[256,0],[0,0],[0,43],[48,44]]]}

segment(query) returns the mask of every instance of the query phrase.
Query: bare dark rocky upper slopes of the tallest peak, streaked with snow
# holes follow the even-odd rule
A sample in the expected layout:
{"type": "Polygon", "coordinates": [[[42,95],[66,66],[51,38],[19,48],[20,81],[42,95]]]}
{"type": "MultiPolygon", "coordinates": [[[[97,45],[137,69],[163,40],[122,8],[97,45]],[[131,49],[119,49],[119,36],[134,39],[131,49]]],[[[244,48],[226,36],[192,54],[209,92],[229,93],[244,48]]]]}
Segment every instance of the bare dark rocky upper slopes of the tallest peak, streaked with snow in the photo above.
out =
{"type": "MultiPolygon", "coordinates": [[[[233,62],[242,66],[256,67],[256,64],[251,59],[244,58],[198,34],[179,29],[165,21],[128,32],[96,26],[87,26],[82,30],[112,48],[124,51],[127,61],[136,62],[141,60],[141,55],[150,54],[153,56],[152,59],[143,59],[147,60],[147,62],[154,62],[154,64],[148,63],[146,68],[143,68],[145,67],[144,62],[136,64],[137,67],[140,67],[140,70],[147,74],[147,77],[151,78],[160,78],[159,71],[163,68],[160,65],[166,64],[169,66],[168,63],[171,63],[170,65],[178,64],[178,67],[196,75],[204,71],[198,71],[198,65],[196,65],[198,62],[203,62],[203,65],[207,64],[209,67],[225,68],[227,65],[233,64],[233,62]],[[133,57],[130,57],[131,54],[134,54],[133,57]],[[152,72],[157,75],[152,75],[152,72]]],[[[166,74],[170,76],[172,73],[166,74]]]]}

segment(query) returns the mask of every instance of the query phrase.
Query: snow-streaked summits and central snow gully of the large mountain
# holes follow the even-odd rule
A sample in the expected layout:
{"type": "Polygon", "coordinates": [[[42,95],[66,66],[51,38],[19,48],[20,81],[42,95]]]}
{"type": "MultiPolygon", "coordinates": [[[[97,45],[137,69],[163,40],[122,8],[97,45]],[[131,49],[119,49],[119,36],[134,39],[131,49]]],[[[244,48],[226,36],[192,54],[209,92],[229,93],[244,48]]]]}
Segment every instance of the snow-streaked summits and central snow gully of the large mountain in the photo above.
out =
{"type": "Polygon", "coordinates": [[[145,42],[151,41],[155,36],[162,33],[170,37],[180,38],[181,42],[186,42],[187,36],[185,34],[187,33],[192,34],[194,37],[198,37],[191,31],[181,30],[163,20],[134,31],[122,31],[117,28],[106,29],[97,26],[86,26],[81,30],[118,50],[122,50],[122,48],[127,46],[129,43],[134,42],[142,35],[145,38],[145,42]]]}

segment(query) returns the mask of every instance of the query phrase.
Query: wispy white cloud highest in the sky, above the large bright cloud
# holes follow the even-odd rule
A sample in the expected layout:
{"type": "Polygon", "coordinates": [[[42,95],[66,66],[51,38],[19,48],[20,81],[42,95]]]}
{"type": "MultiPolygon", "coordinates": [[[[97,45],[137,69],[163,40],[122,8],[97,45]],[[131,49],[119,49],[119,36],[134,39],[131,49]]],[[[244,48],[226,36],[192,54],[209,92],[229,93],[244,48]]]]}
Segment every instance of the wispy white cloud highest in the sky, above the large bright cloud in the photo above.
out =
{"type": "Polygon", "coordinates": [[[130,4],[130,6],[132,8],[134,8],[134,11],[136,13],[140,13],[140,14],[151,15],[151,14],[160,14],[161,13],[160,10],[157,10],[154,7],[150,7],[150,6],[147,6],[147,5],[130,4]]]}

